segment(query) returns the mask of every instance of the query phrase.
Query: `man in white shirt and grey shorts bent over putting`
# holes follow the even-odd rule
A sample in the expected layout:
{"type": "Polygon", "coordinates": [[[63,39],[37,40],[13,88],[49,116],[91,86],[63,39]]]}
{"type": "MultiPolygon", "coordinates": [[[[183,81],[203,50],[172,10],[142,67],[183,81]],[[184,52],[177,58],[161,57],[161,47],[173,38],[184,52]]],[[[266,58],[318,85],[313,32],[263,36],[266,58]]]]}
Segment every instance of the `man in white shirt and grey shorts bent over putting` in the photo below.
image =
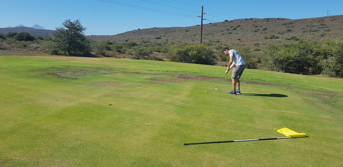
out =
{"type": "Polygon", "coordinates": [[[232,70],[231,80],[232,80],[232,91],[227,92],[230,95],[240,94],[239,90],[239,78],[242,76],[242,73],[245,69],[245,62],[240,56],[240,54],[236,50],[229,50],[229,48],[224,48],[223,53],[227,56],[230,56],[229,64],[227,65],[227,70],[225,74],[227,74],[233,67],[232,70]],[[236,84],[237,84],[237,91],[236,91],[236,84]]]}

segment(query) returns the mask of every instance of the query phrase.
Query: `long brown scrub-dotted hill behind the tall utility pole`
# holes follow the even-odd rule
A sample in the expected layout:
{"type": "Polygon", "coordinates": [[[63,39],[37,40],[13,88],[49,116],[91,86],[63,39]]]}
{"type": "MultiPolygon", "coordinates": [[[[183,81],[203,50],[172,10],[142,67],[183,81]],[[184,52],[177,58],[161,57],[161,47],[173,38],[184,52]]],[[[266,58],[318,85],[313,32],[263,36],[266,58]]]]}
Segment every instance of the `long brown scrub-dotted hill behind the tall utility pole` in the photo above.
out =
{"type": "MultiPolygon", "coordinates": [[[[308,19],[250,18],[203,25],[203,42],[253,45],[255,43],[289,43],[294,37],[321,40],[343,36],[343,15],[308,19]],[[311,36],[309,36],[310,24],[311,36]],[[270,36],[279,39],[264,39],[270,36]],[[291,40],[288,40],[291,38],[291,40]]],[[[130,42],[200,42],[200,25],[137,29],[117,35],[93,35],[88,39],[130,42]],[[160,39],[155,39],[156,37],[160,39]]],[[[294,38],[294,39],[296,39],[294,38]]]]}

